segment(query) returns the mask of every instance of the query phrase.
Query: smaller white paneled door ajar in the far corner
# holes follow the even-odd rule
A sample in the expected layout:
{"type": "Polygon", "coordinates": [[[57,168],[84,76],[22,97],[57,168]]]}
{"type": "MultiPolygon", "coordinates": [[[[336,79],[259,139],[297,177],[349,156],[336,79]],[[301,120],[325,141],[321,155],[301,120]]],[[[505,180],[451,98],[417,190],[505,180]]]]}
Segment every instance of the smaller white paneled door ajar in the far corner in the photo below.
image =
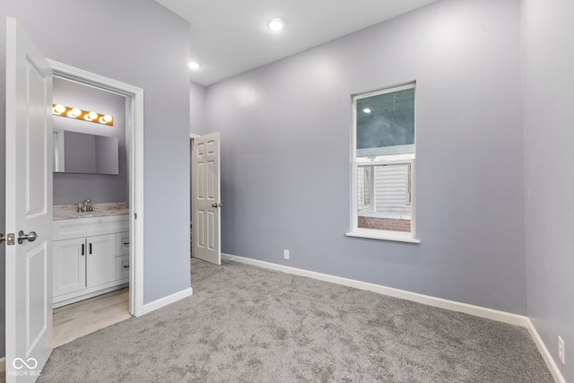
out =
{"type": "Polygon", "coordinates": [[[194,138],[191,154],[194,255],[222,264],[219,132],[194,138]]]}

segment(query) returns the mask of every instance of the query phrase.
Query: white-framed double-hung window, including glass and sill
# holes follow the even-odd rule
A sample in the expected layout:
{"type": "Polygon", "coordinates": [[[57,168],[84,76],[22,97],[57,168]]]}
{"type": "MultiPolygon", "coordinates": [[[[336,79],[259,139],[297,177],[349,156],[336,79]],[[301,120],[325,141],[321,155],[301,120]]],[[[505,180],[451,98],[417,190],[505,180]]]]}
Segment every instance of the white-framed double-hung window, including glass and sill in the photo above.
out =
{"type": "Polygon", "coordinates": [[[352,97],[352,230],[347,235],[415,238],[415,84],[352,97]]]}

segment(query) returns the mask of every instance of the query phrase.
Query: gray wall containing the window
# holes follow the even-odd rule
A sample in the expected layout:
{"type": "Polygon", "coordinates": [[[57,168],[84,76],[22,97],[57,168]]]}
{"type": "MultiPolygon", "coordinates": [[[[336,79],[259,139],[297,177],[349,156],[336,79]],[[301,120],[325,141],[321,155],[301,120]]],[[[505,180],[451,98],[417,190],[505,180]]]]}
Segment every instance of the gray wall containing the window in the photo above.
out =
{"type": "Polygon", "coordinates": [[[519,14],[440,1],[208,87],[222,251],[526,314],[519,14]],[[422,242],[345,237],[351,95],[413,80],[422,242]]]}

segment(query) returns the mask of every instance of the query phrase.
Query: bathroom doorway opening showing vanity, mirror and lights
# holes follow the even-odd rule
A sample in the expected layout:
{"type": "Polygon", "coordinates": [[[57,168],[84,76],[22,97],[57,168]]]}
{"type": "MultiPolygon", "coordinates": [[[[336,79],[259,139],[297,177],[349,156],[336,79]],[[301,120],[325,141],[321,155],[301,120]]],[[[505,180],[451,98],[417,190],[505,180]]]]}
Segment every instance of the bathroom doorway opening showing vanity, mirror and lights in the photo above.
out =
{"type": "Polygon", "coordinates": [[[126,97],[58,76],[52,85],[57,347],[131,317],[129,167],[126,97]]]}

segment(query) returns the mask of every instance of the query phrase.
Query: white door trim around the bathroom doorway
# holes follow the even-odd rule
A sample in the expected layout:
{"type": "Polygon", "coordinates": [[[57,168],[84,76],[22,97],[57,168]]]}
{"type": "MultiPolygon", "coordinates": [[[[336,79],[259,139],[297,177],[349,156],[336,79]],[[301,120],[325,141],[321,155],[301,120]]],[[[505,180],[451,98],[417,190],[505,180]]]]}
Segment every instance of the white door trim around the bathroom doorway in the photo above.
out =
{"type": "Polygon", "coordinates": [[[48,60],[54,75],[76,83],[125,96],[129,162],[129,312],[138,317],[143,309],[143,89],[92,74],[74,66],[48,60]],[[136,218],[137,217],[137,218],[136,218]]]}

